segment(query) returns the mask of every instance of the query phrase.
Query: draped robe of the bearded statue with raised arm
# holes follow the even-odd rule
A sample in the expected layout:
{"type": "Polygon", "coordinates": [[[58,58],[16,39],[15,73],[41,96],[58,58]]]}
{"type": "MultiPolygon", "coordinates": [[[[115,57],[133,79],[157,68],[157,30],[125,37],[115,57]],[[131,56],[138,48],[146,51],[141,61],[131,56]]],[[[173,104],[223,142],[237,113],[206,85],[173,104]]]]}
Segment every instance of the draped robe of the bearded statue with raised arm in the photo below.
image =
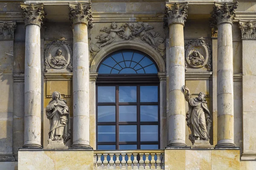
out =
{"type": "Polygon", "coordinates": [[[208,139],[206,119],[210,119],[210,111],[206,101],[200,101],[197,97],[192,98],[186,94],[186,101],[189,102],[189,111],[186,113],[187,125],[191,134],[202,139],[208,139]]]}

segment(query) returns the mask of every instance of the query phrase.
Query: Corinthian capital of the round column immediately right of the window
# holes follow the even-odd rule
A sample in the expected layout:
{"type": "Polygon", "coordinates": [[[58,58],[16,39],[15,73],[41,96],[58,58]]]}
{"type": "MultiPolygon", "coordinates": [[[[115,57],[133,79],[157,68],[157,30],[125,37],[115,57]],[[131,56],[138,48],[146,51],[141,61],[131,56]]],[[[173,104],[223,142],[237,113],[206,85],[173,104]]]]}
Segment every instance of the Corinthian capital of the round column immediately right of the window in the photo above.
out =
{"type": "Polygon", "coordinates": [[[172,23],[181,23],[185,26],[188,3],[166,3],[164,24],[168,26],[172,23]]]}

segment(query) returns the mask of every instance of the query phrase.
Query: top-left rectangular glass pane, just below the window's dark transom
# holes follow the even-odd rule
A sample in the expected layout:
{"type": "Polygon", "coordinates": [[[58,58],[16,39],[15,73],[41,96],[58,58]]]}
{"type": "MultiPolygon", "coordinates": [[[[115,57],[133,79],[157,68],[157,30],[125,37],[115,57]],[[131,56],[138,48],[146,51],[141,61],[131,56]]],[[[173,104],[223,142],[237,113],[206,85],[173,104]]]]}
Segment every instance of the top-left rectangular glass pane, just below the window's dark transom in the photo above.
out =
{"type": "Polygon", "coordinates": [[[98,86],[98,103],[116,102],[115,86],[98,86]]]}

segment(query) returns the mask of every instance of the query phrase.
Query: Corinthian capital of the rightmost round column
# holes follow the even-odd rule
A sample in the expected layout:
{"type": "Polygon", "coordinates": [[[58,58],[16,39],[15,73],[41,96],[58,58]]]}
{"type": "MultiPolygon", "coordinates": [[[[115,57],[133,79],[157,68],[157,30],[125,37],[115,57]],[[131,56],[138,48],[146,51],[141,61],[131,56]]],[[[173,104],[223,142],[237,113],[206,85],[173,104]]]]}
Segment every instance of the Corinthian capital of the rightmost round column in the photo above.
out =
{"type": "Polygon", "coordinates": [[[238,2],[236,3],[214,3],[212,11],[212,18],[216,20],[217,25],[220,23],[233,24],[234,17],[236,17],[236,11],[238,2]]]}

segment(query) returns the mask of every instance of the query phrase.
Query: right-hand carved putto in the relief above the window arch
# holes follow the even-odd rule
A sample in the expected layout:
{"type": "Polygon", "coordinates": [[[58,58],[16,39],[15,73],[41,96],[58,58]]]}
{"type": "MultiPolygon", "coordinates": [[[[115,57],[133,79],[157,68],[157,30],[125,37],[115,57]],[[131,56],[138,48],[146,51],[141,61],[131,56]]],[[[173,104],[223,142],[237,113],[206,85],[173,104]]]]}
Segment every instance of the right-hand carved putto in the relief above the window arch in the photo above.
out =
{"type": "Polygon", "coordinates": [[[147,30],[154,29],[152,26],[144,26],[143,22],[138,22],[136,28],[133,28],[133,26],[130,26],[131,29],[133,29],[133,33],[131,36],[140,36],[140,39],[147,42],[149,45],[156,47],[156,44],[154,42],[154,38],[158,37],[159,34],[156,32],[146,32],[147,30]],[[154,38],[153,38],[154,37],[154,38]]]}

